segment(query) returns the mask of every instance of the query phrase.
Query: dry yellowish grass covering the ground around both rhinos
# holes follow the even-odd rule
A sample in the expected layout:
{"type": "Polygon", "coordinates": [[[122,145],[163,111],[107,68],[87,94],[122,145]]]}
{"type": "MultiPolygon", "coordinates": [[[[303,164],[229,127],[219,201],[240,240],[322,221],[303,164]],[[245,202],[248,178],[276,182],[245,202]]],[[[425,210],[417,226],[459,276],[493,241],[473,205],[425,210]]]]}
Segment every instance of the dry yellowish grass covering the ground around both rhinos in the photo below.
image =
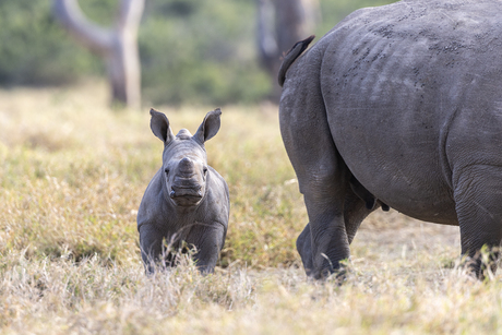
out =
{"type": "MultiPolygon", "coordinates": [[[[344,285],[311,283],[307,223],[274,106],[224,106],[210,164],[231,217],[220,266],[145,277],[135,211],[159,166],[147,108],[106,107],[104,85],[0,91],[2,334],[498,334],[502,284],[455,266],[458,229],[374,213],[344,285]]],[[[207,108],[156,106],[175,131],[207,108]]]]}

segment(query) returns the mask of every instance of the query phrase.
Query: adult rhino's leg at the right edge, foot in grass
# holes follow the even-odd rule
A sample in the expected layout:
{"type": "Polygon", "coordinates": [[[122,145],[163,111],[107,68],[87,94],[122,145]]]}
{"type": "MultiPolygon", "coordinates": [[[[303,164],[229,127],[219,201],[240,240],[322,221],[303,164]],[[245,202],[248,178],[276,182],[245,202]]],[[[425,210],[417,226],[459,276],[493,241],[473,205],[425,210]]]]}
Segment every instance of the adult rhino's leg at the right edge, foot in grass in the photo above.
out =
{"type": "Polygon", "coordinates": [[[462,254],[468,256],[473,274],[483,279],[488,267],[494,273],[502,241],[502,170],[473,165],[454,175],[454,199],[461,227],[462,254]],[[486,251],[489,254],[483,255],[486,251]]]}

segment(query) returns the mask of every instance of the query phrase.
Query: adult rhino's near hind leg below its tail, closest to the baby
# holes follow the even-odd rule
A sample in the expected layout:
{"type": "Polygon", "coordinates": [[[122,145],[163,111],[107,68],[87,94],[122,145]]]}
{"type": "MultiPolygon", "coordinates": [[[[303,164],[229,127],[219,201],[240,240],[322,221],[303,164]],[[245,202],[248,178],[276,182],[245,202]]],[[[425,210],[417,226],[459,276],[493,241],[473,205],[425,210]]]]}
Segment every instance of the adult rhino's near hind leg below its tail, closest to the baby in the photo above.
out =
{"type": "MultiPolygon", "coordinates": [[[[312,67],[316,61],[306,59],[307,55],[298,59],[295,69],[288,72],[279,121],[283,142],[309,215],[312,253],[309,274],[324,278],[339,268],[339,261],[349,258],[344,201],[346,190],[350,190],[350,176],[331,136],[319,73],[312,67]]],[[[302,259],[309,258],[302,254],[309,249],[304,248],[306,235],[300,236],[302,259]]]]}

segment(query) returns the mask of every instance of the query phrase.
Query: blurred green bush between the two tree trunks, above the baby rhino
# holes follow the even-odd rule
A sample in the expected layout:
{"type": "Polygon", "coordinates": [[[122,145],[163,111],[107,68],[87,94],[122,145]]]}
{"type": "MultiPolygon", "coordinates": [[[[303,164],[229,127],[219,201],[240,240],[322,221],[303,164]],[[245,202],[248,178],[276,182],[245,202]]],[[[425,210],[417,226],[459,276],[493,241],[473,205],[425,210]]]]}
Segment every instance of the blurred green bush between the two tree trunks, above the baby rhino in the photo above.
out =
{"type": "Polygon", "coordinates": [[[140,29],[144,99],[252,103],[272,85],[254,50],[250,1],[156,1],[140,29]]]}

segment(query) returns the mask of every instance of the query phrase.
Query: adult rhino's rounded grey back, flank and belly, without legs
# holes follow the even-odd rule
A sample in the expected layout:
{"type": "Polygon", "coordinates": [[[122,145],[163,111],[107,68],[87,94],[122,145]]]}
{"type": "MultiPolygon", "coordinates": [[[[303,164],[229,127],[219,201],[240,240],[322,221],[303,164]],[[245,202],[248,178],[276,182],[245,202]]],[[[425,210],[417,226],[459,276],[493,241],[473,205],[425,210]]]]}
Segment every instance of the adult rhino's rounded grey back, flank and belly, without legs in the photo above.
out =
{"type": "Polygon", "coordinates": [[[321,92],[335,145],[384,203],[456,224],[455,157],[475,154],[466,152],[474,141],[474,152],[491,147],[499,164],[498,17],[502,1],[402,1],[354,13],[311,51],[323,53],[321,92]]]}

